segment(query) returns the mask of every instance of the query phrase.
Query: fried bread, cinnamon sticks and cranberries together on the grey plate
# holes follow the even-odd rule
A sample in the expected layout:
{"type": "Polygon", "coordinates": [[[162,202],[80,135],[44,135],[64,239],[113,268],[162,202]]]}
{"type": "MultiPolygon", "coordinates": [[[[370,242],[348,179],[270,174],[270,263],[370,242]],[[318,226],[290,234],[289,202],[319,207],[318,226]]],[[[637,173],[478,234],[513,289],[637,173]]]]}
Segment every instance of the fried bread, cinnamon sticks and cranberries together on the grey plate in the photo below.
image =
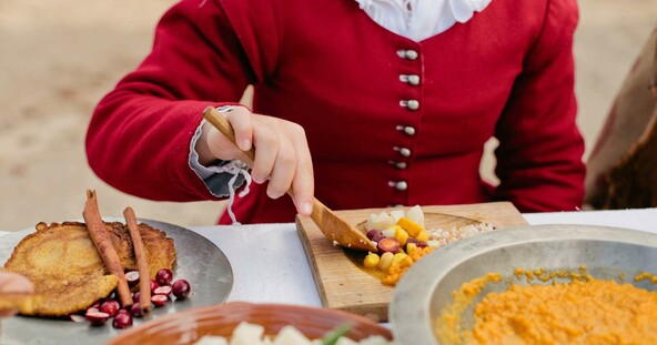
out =
{"type": "Polygon", "coordinates": [[[127,224],[103,222],[94,192],[88,192],[83,215],[85,223],[39,223],[14,247],[4,268],[34,284],[31,307],[22,310],[22,315],[68,316],[92,325],[114,317],[114,327],[123,328],[132,324],[132,316],[149,313],[151,302],[160,306],[171,294],[188,297],[190,284],[173,282],[175,246],[164,232],[138,224],[130,207],[127,224]],[[140,278],[144,274],[145,280],[140,278]],[[118,288],[121,280],[124,291],[118,288]],[[140,295],[148,295],[149,302],[140,304],[140,295]]]}

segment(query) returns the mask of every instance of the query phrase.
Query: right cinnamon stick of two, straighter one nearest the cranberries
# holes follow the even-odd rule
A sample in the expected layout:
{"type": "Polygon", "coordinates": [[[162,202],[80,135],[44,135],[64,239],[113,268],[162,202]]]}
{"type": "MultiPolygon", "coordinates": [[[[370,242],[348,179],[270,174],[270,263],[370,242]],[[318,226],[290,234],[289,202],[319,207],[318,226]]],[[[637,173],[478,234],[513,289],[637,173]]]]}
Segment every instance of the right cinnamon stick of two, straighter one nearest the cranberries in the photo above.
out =
{"type": "Polygon", "coordinates": [[[125,217],[125,225],[130,231],[130,237],[132,239],[132,247],[134,248],[134,257],[137,258],[137,267],[139,270],[139,306],[143,316],[151,313],[151,274],[149,272],[149,261],[146,258],[146,252],[141,240],[141,233],[139,232],[139,225],[137,225],[137,216],[132,207],[127,207],[123,211],[125,217]]]}

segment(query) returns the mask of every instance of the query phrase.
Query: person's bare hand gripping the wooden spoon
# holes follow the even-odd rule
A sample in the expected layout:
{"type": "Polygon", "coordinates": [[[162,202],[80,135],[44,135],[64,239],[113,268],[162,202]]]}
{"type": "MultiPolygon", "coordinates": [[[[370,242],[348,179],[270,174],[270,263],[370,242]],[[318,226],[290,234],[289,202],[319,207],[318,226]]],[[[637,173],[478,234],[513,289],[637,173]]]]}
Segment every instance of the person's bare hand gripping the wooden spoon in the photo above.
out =
{"type": "Polygon", "coordinates": [[[296,212],[310,215],[313,209],[314,179],[311,153],[303,128],[277,118],[254,114],[244,106],[223,113],[235,133],[235,146],[212,124],[205,123],[196,142],[201,164],[215,160],[241,160],[251,166],[255,183],[269,180],[266,193],[279,199],[291,187],[296,212]],[[255,161],[244,151],[254,146],[255,161]]]}

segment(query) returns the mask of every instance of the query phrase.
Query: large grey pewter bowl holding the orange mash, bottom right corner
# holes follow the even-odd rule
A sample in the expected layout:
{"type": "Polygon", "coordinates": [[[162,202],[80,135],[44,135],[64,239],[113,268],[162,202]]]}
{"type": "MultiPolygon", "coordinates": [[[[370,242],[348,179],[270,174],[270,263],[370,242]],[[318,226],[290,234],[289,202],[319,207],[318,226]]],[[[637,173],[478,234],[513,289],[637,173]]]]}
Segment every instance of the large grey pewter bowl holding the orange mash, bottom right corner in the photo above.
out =
{"type": "MultiPolygon", "coordinates": [[[[656,291],[657,285],[635,282],[634,277],[641,272],[657,273],[657,234],[604,226],[536,225],[482,233],[446,245],[418,261],[397,284],[388,313],[394,338],[410,342],[401,344],[441,344],[433,331],[434,321],[453,302],[452,292],[473,278],[492,272],[503,276],[502,283],[488,284],[478,295],[481,300],[489,292],[506,290],[509,283],[526,285],[526,281],[514,277],[515,268],[576,272],[580,266],[596,278],[656,291]]],[[[472,324],[472,307],[463,317],[465,326],[472,324]]]]}

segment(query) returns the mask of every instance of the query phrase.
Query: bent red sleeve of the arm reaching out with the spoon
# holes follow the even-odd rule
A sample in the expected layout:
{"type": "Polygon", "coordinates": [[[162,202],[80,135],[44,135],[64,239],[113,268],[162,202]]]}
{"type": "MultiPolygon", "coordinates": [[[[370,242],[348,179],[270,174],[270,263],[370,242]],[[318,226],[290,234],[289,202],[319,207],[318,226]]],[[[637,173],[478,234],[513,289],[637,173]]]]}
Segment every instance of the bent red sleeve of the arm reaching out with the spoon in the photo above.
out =
{"type": "Polygon", "coordinates": [[[190,141],[208,105],[237,102],[253,81],[245,61],[215,1],[174,6],[156,28],[152,52],[98,104],[85,143],[91,169],[141,197],[214,199],[189,168],[190,141]]]}

